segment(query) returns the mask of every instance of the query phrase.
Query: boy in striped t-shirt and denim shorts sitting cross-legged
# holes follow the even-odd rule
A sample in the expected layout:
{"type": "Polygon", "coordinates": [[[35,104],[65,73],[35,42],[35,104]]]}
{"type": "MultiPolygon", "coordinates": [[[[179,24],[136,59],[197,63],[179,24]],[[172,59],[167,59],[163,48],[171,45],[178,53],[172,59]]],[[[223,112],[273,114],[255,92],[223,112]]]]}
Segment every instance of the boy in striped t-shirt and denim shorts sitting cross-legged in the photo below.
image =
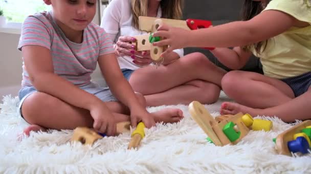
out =
{"type": "Polygon", "coordinates": [[[116,123],[172,123],[180,109],[148,113],[144,97],[135,93],[119,68],[113,43],[91,23],[96,0],[43,0],[52,11],[23,23],[18,49],[23,54],[19,111],[31,126],[24,130],[75,129],[78,126],[115,135],[116,123]],[[91,81],[99,65],[109,88],[91,81]],[[110,91],[111,90],[111,91],[110,91]]]}

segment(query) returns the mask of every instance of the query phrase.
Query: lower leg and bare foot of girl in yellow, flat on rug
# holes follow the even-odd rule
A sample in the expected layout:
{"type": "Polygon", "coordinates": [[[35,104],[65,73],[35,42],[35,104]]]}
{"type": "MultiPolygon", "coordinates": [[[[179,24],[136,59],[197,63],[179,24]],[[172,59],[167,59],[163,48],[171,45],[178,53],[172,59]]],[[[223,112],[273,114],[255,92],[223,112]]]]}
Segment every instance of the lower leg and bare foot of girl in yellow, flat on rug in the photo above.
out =
{"type": "Polygon", "coordinates": [[[235,114],[237,112],[250,113],[254,117],[257,115],[277,116],[284,122],[294,122],[295,120],[311,119],[311,90],[301,96],[278,106],[265,109],[254,109],[237,103],[226,103],[226,107],[221,109],[224,114],[235,114]]]}

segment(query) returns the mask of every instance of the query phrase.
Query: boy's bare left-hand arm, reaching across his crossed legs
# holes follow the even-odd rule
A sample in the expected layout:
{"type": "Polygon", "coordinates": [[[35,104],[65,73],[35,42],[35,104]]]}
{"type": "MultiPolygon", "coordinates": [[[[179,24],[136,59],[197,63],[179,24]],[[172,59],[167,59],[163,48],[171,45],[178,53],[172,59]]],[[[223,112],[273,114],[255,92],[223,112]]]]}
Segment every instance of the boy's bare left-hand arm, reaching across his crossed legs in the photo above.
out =
{"type": "Polygon", "coordinates": [[[90,110],[94,129],[114,135],[116,124],[108,107],[96,96],[87,93],[54,73],[51,52],[38,45],[26,45],[22,49],[30,81],[39,92],[50,94],[73,106],[90,110]]]}

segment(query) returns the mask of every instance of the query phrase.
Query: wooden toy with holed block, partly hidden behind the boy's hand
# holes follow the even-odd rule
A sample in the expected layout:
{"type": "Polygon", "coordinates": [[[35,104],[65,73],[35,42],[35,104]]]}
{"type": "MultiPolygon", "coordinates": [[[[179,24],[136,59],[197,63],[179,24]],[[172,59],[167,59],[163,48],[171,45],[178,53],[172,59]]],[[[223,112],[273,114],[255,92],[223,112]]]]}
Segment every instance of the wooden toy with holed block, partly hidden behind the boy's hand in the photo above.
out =
{"type": "MultiPolygon", "coordinates": [[[[127,132],[130,129],[130,122],[121,122],[117,124],[117,134],[127,132]]],[[[92,145],[96,140],[103,136],[87,127],[77,127],[74,130],[71,141],[80,141],[82,144],[92,145]]]]}

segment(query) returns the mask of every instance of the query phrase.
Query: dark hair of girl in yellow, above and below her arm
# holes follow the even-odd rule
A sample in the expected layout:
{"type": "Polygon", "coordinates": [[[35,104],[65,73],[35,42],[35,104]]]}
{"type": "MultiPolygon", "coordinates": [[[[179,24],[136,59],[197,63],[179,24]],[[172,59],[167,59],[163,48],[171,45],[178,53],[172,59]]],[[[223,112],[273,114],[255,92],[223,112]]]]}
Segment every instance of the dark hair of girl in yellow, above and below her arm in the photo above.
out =
{"type": "MultiPolygon", "coordinates": [[[[242,20],[243,21],[250,20],[256,15],[258,15],[259,13],[261,13],[262,10],[266,7],[266,5],[269,4],[270,1],[272,0],[266,0],[266,3],[263,4],[260,1],[244,0],[242,11],[241,11],[242,20]]],[[[261,51],[265,49],[266,44],[267,44],[267,40],[260,41],[258,43],[242,46],[242,49],[249,51],[252,48],[254,48],[256,52],[259,54],[261,51]]]]}

